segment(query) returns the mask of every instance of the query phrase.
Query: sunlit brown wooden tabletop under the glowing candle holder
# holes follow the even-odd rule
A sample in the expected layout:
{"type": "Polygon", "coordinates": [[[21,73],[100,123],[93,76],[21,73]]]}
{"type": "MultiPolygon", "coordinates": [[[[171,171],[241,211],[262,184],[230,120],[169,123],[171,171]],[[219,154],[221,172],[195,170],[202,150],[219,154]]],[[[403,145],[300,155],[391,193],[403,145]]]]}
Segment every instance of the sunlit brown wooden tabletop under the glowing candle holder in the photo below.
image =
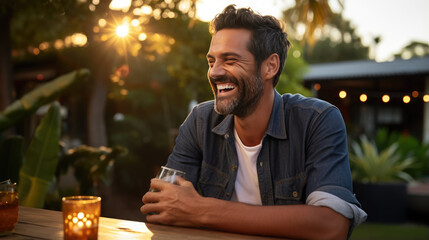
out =
{"type": "MultiPolygon", "coordinates": [[[[128,221],[115,218],[100,218],[98,238],[140,240],[219,240],[219,239],[278,239],[262,236],[234,234],[195,228],[182,228],[128,221]]],[[[62,212],[38,208],[19,207],[15,231],[3,239],[63,239],[62,212]]]]}

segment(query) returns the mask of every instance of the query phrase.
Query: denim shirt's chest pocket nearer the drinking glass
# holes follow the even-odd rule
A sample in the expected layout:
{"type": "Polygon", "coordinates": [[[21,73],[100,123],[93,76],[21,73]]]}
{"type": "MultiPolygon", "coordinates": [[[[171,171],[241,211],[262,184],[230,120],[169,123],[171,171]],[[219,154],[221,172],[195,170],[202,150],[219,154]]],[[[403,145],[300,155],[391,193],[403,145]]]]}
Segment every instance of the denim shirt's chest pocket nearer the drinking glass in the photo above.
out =
{"type": "Polygon", "coordinates": [[[228,180],[227,174],[203,162],[198,191],[204,197],[223,198],[228,180]]]}

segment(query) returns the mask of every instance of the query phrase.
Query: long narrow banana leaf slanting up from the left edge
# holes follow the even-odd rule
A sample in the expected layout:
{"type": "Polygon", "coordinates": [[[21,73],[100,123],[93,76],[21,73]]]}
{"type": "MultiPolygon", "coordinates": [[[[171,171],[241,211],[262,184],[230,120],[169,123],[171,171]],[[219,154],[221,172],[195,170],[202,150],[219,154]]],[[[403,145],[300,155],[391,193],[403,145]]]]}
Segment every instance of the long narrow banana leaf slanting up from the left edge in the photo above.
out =
{"type": "Polygon", "coordinates": [[[54,101],[71,86],[86,80],[88,76],[88,69],[76,70],[27,93],[0,113],[0,132],[13,126],[22,118],[33,114],[39,107],[54,101]]]}

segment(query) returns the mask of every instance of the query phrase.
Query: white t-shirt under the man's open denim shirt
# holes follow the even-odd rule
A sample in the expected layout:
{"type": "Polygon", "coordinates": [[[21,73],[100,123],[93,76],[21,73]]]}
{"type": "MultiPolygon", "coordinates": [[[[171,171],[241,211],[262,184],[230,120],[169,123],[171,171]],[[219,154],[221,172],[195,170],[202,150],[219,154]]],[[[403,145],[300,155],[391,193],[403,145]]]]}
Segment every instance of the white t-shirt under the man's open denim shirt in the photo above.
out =
{"type": "Polygon", "coordinates": [[[262,148],[262,142],[253,147],[245,146],[234,128],[235,148],[238,156],[237,178],[232,201],[245,202],[253,205],[262,205],[259,191],[256,161],[262,148]]]}

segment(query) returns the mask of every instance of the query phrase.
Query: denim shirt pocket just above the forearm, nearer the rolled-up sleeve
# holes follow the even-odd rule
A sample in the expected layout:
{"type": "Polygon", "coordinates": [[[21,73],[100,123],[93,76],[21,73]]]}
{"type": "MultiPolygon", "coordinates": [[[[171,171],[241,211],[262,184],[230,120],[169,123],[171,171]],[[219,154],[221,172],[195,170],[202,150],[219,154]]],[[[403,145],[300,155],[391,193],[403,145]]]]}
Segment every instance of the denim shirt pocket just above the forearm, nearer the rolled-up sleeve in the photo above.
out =
{"type": "Polygon", "coordinates": [[[275,204],[304,204],[305,173],[275,182],[275,204]]]}

